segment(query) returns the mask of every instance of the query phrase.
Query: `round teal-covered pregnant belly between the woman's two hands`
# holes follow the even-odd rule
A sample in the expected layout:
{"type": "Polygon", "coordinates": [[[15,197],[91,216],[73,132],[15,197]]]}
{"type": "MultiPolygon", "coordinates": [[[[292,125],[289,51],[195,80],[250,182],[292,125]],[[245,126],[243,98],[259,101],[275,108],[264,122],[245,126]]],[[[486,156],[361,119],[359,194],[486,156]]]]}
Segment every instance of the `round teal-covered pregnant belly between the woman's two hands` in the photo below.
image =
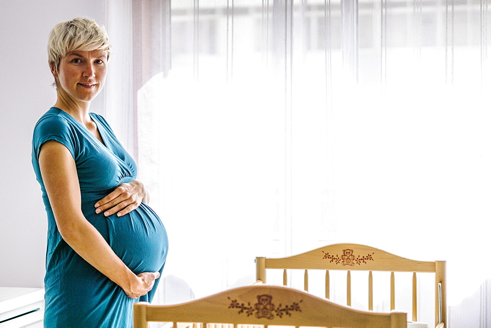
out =
{"type": "MultiPolygon", "coordinates": [[[[91,213],[94,211],[91,209],[91,213]]],[[[91,215],[94,217],[94,214],[91,215]]],[[[109,243],[116,255],[135,274],[162,269],[167,256],[168,239],[164,224],[155,212],[141,203],[122,216],[102,214],[89,221],[109,243]],[[105,224],[107,223],[107,225],[105,224]]]]}

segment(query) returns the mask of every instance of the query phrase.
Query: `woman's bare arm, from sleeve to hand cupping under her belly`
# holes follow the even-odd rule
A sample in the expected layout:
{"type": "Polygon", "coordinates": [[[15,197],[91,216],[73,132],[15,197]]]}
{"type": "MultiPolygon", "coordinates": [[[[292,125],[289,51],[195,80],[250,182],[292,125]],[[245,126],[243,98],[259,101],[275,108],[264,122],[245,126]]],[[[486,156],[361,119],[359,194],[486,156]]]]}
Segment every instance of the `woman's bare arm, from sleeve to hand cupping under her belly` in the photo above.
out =
{"type": "Polygon", "coordinates": [[[55,140],[47,141],[39,153],[39,166],[56,225],[65,242],[123,288],[128,297],[136,299],[150,291],[159,273],[135,275],[83,216],[79,179],[70,151],[55,140]]]}

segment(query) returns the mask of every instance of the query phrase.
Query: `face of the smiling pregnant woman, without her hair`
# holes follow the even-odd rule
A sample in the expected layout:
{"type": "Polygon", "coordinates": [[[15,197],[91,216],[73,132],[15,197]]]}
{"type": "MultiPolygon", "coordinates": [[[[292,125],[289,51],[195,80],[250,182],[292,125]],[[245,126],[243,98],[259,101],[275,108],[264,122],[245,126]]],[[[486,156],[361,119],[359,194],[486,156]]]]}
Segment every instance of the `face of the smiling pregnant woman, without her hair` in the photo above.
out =
{"type": "Polygon", "coordinates": [[[52,73],[58,78],[58,88],[72,101],[90,102],[106,82],[107,61],[104,50],[74,50],[61,58],[58,72],[52,68],[52,73]]]}

